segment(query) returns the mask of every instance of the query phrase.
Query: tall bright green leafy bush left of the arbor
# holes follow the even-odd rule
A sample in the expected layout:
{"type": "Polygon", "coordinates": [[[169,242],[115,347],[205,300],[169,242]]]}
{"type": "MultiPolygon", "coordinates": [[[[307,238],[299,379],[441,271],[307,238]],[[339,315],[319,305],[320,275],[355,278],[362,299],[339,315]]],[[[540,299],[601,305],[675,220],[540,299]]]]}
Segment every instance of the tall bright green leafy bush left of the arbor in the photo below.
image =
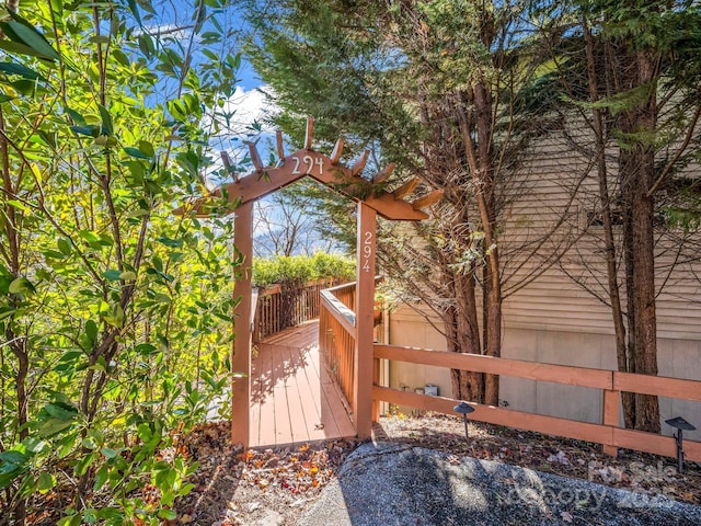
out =
{"type": "Polygon", "coordinates": [[[47,521],[159,524],[191,489],[159,451],[231,373],[230,221],[172,214],[210,164],[206,108],[233,92],[235,57],[183,56],[187,35],[223,49],[206,3],[185,36],[149,33],[141,0],[0,20],[2,524],[66,494],[47,521]]]}

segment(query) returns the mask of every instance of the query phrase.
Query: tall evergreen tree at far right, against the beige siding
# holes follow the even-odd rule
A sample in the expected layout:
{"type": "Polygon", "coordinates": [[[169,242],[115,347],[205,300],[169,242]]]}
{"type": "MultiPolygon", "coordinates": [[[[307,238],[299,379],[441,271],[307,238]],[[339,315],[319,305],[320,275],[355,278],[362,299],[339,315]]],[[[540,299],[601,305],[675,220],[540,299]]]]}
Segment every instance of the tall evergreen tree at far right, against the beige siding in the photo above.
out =
{"type": "MultiPolygon", "coordinates": [[[[604,0],[545,9],[550,21],[564,24],[550,33],[561,35],[560,82],[594,136],[618,368],[656,375],[660,211],[679,201],[678,175],[699,151],[698,2],[604,0]],[[612,149],[614,170],[607,159],[612,149]]],[[[627,426],[659,431],[656,397],[624,393],[623,408],[627,426]]]]}

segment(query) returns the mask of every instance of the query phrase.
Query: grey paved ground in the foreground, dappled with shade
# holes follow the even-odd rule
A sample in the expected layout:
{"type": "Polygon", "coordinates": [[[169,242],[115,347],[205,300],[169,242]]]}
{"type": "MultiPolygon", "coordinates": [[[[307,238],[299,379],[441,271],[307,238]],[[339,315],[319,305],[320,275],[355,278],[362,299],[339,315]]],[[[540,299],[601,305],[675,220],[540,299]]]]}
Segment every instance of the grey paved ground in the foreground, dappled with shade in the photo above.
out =
{"type": "Polygon", "coordinates": [[[697,525],[701,507],[405,444],[365,444],[300,526],[697,525]]]}

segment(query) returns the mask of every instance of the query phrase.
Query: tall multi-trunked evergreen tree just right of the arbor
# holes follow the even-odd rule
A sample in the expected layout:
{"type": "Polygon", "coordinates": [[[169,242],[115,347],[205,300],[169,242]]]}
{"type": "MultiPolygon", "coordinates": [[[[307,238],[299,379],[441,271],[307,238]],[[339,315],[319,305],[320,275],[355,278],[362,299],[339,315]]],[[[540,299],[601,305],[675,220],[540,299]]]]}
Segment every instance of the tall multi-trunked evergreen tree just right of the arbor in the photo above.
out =
{"type": "MultiPolygon", "coordinates": [[[[251,2],[249,12],[251,58],[283,110],[278,125],[299,136],[292,123],[313,114],[320,135],[344,134],[355,151],[397,161],[389,184],[406,184],[398,192],[413,178],[446,190],[437,219],[416,228],[423,249],[386,243],[380,256],[436,310],[449,350],[499,356],[501,232],[518,184],[508,174],[541,122],[527,96],[540,54],[524,5],[289,0],[251,2]]],[[[498,378],[453,370],[452,379],[455,397],[498,403],[498,378]]]]}

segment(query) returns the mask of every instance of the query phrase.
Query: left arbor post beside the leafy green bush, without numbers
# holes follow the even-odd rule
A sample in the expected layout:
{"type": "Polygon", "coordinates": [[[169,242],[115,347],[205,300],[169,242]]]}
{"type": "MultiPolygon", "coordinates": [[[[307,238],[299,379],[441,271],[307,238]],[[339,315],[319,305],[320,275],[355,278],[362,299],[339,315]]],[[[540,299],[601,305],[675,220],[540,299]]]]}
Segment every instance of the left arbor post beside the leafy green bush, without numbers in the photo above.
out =
{"type": "Polygon", "coordinates": [[[233,219],[234,254],[241,262],[234,266],[233,297],[241,300],[233,310],[234,375],[231,400],[231,442],[249,446],[251,427],[251,265],[253,259],[253,202],[241,205],[233,219]]]}

